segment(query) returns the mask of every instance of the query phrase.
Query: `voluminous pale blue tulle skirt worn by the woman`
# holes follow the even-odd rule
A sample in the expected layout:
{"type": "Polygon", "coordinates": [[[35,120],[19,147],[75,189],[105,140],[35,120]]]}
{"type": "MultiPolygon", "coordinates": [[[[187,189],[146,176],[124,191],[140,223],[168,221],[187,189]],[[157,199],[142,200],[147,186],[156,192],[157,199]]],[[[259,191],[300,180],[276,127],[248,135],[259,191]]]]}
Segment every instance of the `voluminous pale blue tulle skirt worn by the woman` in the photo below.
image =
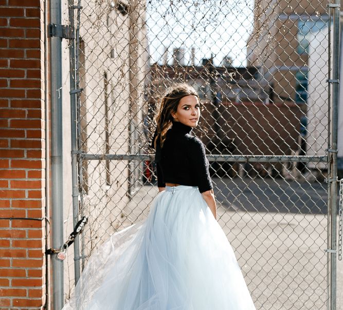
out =
{"type": "Polygon", "coordinates": [[[224,231],[197,187],[166,187],[147,219],[93,254],[65,304],[92,310],[255,309],[224,231]]]}

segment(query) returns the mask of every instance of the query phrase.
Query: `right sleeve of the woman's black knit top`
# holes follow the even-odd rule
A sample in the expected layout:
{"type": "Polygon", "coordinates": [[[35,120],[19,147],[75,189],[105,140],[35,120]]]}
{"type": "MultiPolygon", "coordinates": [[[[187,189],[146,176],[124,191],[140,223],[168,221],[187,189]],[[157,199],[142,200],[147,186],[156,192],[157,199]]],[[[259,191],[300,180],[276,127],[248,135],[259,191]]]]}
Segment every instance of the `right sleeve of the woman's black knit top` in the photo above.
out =
{"type": "Polygon", "coordinates": [[[192,166],[192,171],[195,173],[199,191],[204,192],[212,189],[213,185],[209,173],[209,162],[206,158],[205,146],[196,137],[190,143],[189,161],[192,166]]]}

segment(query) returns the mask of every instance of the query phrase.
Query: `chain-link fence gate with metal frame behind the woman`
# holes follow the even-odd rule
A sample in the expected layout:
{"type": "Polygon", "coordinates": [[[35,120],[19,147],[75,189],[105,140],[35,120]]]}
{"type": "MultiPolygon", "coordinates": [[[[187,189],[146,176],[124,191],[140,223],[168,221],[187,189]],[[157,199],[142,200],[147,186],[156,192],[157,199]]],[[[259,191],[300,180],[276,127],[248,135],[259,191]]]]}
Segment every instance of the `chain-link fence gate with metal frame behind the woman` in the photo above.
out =
{"type": "Polygon", "coordinates": [[[76,278],[106,238],[148,215],[153,115],[170,84],[187,82],[201,98],[193,132],[207,147],[218,222],[256,307],[335,309],[337,110],[328,102],[338,100],[338,53],[332,59],[328,46],[333,25],[337,49],[339,7],[331,7],[69,0],[74,220],[88,217],[76,278]]]}

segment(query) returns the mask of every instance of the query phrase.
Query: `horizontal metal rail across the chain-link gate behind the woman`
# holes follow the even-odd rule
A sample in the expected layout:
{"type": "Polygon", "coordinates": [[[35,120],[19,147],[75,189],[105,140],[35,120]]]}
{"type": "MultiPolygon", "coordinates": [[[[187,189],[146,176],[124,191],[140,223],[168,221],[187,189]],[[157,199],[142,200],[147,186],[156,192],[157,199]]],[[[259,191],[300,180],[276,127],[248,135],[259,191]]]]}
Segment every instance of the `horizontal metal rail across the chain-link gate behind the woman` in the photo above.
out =
{"type": "MultiPolygon", "coordinates": [[[[150,160],[155,154],[80,154],[82,160],[150,160]]],[[[215,162],[327,162],[327,156],[286,156],[286,155],[207,155],[215,162]]]]}

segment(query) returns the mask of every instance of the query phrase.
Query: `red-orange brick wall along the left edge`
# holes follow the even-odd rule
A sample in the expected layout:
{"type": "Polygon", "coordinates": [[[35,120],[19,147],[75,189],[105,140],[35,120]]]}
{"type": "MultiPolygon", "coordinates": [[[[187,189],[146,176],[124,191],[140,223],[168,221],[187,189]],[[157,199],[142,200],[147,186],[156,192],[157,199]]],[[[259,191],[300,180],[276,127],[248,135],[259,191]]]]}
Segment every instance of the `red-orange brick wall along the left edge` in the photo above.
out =
{"type": "Polygon", "coordinates": [[[44,115],[44,4],[0,0],[0,309],[45,304],[44,115]]]}

